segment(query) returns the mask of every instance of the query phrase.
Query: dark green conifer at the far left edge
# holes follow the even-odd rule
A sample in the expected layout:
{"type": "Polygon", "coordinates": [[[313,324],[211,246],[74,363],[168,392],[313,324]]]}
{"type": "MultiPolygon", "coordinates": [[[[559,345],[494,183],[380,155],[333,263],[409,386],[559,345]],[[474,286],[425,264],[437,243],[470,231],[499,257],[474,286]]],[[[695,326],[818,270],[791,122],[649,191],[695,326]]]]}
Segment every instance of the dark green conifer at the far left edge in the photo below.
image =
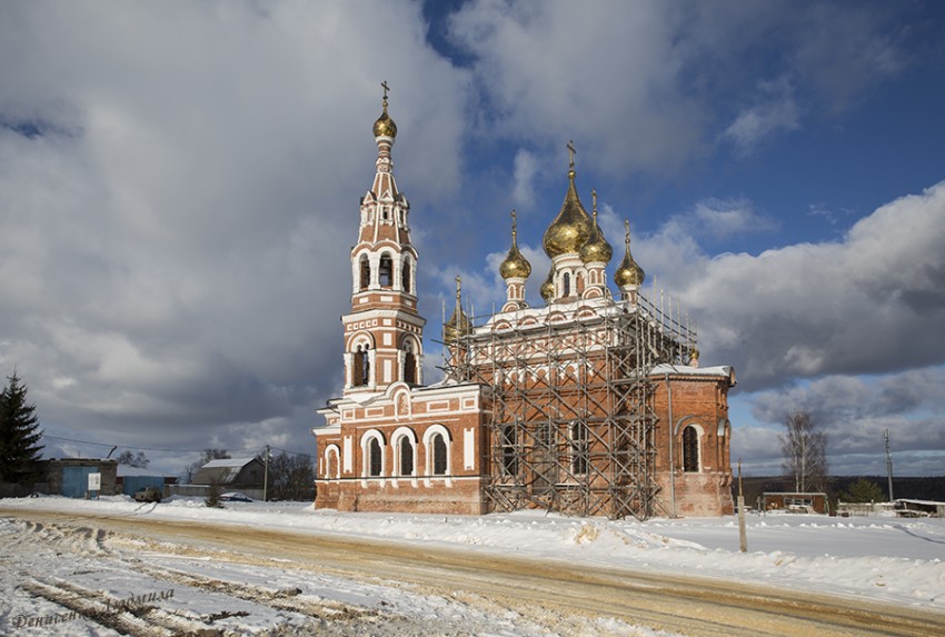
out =
{"type": "Polygon", "coordinates": [[[0,391],[0,480],[30,481],[42,450],[42,445],[38,445],[42,431],[36,405],[27,401],[27,387],[16,369],[7,380],[0,391]]]}

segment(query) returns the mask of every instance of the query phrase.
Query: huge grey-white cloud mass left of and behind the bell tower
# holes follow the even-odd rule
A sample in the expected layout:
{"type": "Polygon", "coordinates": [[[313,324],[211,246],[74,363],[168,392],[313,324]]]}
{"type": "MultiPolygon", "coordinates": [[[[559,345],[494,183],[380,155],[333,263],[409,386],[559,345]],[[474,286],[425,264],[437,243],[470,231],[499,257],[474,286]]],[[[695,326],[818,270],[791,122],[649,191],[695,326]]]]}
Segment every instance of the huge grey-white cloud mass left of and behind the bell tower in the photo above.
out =
{"type": "Polygon", "coordinates": [[[0,366],[48,432],[241,448],[315,424],[381,80],[409,131],[398,178],[458,187],[464,72],[419,11],[0,9],[0,366]]]}

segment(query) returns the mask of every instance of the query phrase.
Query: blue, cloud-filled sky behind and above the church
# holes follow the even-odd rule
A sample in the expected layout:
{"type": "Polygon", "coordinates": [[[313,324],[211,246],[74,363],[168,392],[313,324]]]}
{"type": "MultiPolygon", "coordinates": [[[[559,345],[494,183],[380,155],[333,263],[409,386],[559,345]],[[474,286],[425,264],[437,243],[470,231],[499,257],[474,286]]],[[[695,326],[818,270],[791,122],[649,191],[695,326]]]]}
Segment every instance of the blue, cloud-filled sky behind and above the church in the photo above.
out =
{"type": "Polygon", "coordinates": [[[835,475],[945,474],[938,2],[0,4],[0,374],[48,457],[314,452],[341,392],[349,249],[390,86],[436,380],[461,275],[540,306],[568,152],[615,258],[732,365],[732,457],[780,474],[807,410],[835,475]],[[668,302],[668,301],[667,301],[668,302]]]}

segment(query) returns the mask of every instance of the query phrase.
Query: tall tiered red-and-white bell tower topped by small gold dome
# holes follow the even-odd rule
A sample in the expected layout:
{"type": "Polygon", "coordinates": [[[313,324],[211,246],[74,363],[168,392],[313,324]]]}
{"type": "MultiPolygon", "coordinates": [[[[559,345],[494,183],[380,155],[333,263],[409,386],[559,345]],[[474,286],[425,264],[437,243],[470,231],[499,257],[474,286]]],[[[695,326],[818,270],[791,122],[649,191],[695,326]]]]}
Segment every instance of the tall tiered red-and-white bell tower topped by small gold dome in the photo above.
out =
{"type": "Polygon", "coordinates": [[[351,311],[345,329],[345,395],[382,391],[394,382],[422,384],[424,319],[417,313],[417,250],[410,243],[410,203],[397,189],[390,149],[397,125],[384,112],[374,123],[377,170],[361,198],[358,242],[351,248],[351,311]]]}

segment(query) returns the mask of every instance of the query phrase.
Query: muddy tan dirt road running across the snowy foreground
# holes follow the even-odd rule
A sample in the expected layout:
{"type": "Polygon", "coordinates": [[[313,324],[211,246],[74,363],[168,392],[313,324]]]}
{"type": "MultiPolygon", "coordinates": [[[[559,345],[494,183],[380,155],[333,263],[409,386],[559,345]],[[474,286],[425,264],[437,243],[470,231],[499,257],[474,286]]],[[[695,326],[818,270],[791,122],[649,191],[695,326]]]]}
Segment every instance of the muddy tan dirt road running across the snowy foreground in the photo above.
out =
{"type": "MultiPolygon", "coordinates": [[[[19,509],[0,509],[0,516],[92,529],[100,541],[110,538],[105,545],[120,546],[130,539],[161,541],[167,543],[165,549],[176,546],[188,555],[211,559],[218,551],[227,551],[230,561],[275,567],[290,560],[294,568],[397,583],[412,590],[465,598],[497,614],[516,613],[560,635],[579,635],[588,618],[600,617],[687,636],[945,635],[945,615],[941,614],[709,578],[591,569],[579,564],[251,527],[19,509]]],[[[457,627],[448,634],[466,633],[457,627]]]]}

